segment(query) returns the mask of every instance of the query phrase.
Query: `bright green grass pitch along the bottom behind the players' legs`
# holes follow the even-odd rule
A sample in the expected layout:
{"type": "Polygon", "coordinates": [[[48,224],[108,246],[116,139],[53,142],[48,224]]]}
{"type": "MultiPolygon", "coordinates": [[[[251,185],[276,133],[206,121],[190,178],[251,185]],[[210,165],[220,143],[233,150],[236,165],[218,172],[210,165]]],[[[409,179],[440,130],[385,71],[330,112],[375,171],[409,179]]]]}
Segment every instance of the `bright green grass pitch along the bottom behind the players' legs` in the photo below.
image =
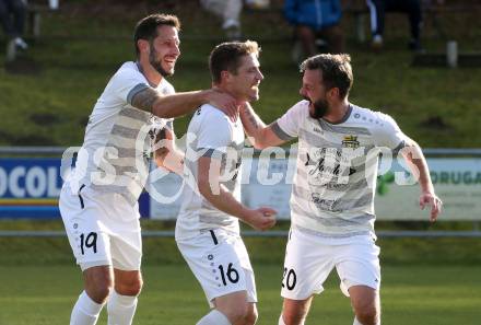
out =
{"type": "MultiPolygon", "coordinates": [[[[257,324],[277,324],[281,265],[254,265],[259,294],[257,324]]],[[[208,311],[203,292],[185,265],[143,268],[145,286],[134,324],[187,325],[208,311]]],[[[383,324],[474,325],[481,318],[480,266],[387,266],[383,268],[383,324]]],[[[74,266],[0,267],[0,324],[68,324],[81,290],[74,266]]],[[[349,300],[336,272],[314,301],[306,324],[352,324],[349,300]]],[[[103,311],[98,324],[107,324],[103,311]]]]}

